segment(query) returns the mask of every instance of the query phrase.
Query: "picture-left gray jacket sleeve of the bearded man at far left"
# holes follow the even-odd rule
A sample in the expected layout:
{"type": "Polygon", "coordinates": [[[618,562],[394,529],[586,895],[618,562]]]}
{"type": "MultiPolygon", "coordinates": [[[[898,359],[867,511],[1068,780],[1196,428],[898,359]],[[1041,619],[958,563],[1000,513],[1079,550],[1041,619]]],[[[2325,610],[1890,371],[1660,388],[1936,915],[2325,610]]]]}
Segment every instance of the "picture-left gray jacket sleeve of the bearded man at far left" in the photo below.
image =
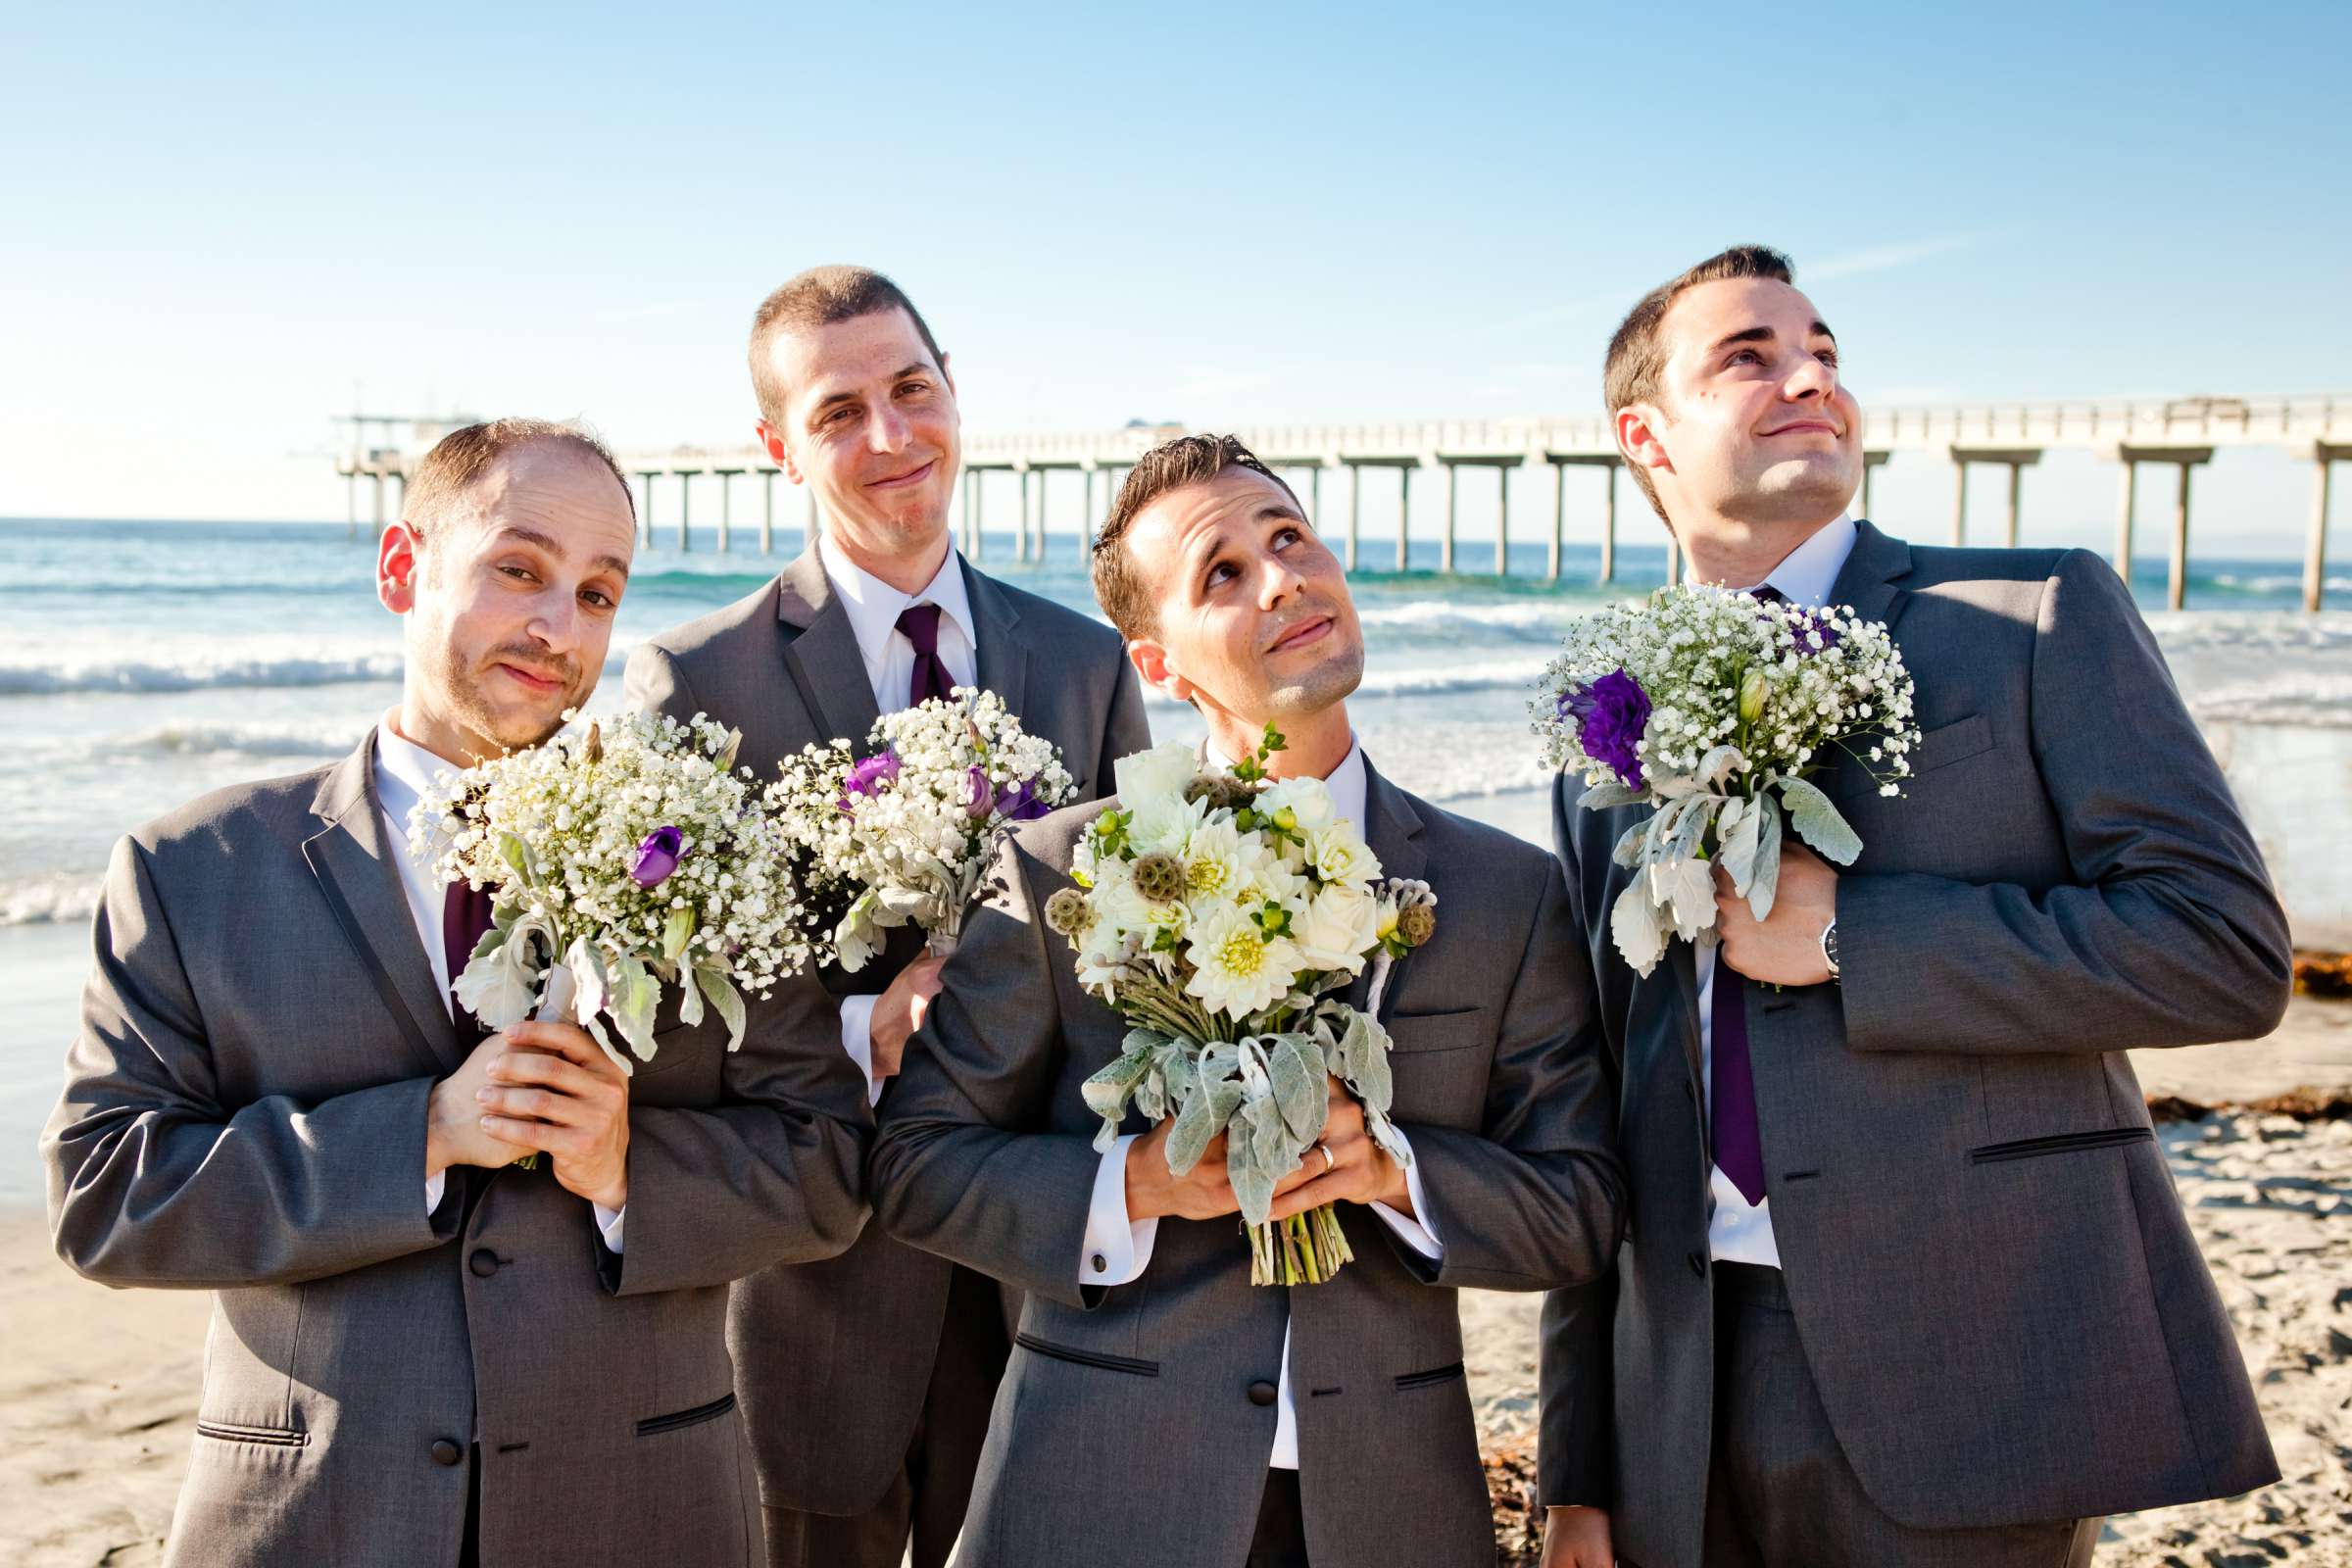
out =
{"type": "Polygon", "coordinates": [[[426,1215],[426,1100],[414,1077],[301,1103],[230,1105],[153,865],[115,844],[66,1091],[42,1133],[49,1227],[111,1286],[296,1284],[440,1246],[426,1215]]]}

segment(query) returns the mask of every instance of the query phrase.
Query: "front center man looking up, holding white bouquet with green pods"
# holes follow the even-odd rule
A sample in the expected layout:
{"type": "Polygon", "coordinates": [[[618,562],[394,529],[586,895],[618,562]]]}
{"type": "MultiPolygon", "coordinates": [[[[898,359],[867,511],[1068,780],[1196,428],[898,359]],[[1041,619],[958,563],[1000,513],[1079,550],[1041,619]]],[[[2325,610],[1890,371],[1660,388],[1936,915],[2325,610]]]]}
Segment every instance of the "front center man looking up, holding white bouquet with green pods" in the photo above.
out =
{"type": "MultiPolygon", "coordinates": [[[[1494,1563],[1458,1286],[1590,1281],[1618,1241],[1613,1074],[1548,856],[1381,778],[1348,726],[1364,642],[1298,501],[1230,437],[1136,463],[1094,564],[1143,679],[1209,748],[1268,722],[1279,776],[1327,778],[1437,933],[1381,999],[1411,1164],[1334,1081],[1275,1218],[1338,1204],[1355,1262],[1254,1288],[1223,1140],[1188,1175],[1169,1124],[1096,1154],[1080,1084],[1127,1025],[1040,912],[1096,806],[1014,835],[882,1105],[875,1218],[1028,1293],[974,1490],[967,1568],[1494,1563]]],[[[1367,999],[1364,983],[1355,1001],[1367,999]]]]}

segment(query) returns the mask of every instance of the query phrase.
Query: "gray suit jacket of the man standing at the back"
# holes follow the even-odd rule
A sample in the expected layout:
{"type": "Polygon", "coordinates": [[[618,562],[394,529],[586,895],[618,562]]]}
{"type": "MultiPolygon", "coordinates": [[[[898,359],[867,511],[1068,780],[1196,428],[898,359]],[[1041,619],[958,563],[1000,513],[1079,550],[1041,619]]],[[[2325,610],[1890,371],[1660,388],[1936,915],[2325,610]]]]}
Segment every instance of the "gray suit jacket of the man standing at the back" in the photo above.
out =
{"type": "MultiPolygon", "coordinates": [[[[1061,748],[1080,799],[1091,799],[1112,762],[1150,745],[1143,689],[1117,632],[969,562],[964,588],[978,684],[1028,733],[1061,748]]],[[[809,743],[840,736],[863,748],[877,717],[856,632],[814,548],[760,592],[637,646],[628,698],[739,726],[741,764],[760,776],[809,743]]],[[[901,931],[863,971],[833,973],[828,985],[880,992],[920,950],[920,933],[901,931]]],[[[811,992],[811,1041],[840,1056],[837,1001],[814,983],[802,990],[811,992]]],[[[946,1312],[948,1265],[880,1229],[840,1258],[736,1286],[736,1392],[769,1505],[863,1514],[882,1500],[915,1441],[946,1312]]]]}

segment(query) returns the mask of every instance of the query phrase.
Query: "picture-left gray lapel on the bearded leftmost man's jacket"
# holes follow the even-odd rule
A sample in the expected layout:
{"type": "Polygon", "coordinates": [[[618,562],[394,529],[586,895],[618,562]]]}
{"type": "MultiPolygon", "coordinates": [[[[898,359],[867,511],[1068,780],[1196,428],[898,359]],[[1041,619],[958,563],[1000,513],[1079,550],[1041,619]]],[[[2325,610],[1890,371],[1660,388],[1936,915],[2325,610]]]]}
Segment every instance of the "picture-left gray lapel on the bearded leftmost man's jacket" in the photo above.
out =
{"type": "Polygon", "coordinates": [[[466,1046],[442,1006],[433,959],[426,957],[409,896],[400,886],[400,863],[393,856],[407,851],[383,830],[374,755],[376,731],[367,731],[360,750],[327,773],[310,802],[322,827],[303,839],[301,853],[402,1039],[435,1074],[454,1072],[466,1060],[466,1046]]]}

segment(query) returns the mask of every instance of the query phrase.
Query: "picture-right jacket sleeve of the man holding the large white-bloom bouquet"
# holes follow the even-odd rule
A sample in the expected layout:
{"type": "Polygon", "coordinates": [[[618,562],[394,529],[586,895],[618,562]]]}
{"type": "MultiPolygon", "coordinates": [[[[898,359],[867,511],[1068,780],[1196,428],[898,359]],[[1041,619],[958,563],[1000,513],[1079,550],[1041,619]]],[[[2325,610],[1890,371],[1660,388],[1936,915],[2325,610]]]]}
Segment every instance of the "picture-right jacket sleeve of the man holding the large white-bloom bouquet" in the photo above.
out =
{"type": "Polygon", "coordinates": [[[1576,940],[1559,867],[1545,863],[1541,891],[1529,891],[1531,924],[1496,1030],[1484,1126],[1402,1124],[1444,1258],[1432,1265],[1402,1241],[1397,1255],[1439,1286],[1545,1291],[1597,1279],[1616,1260],[1625,1171],[1592,961],[1576,940]]]}

